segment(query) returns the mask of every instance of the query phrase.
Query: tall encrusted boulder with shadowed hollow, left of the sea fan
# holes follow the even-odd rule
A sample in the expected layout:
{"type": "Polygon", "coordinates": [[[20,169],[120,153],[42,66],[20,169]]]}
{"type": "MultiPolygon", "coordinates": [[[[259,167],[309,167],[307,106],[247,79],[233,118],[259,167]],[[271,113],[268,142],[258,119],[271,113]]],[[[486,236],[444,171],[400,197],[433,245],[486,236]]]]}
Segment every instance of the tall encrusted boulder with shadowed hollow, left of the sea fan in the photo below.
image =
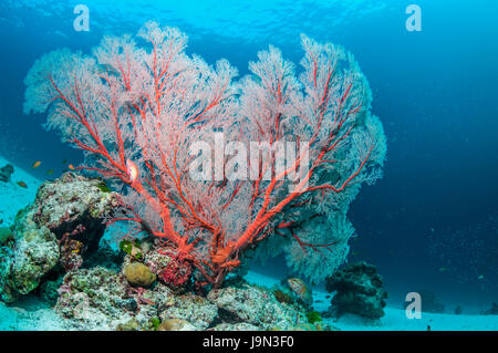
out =
{"type": "Polygon", "coordinates": [[[100,179],[66,173],[44,183],[1,239],[0,299],[13,302],[49,272],[80,268],[97,250],[103,220],[116,201],[100,179]]]}

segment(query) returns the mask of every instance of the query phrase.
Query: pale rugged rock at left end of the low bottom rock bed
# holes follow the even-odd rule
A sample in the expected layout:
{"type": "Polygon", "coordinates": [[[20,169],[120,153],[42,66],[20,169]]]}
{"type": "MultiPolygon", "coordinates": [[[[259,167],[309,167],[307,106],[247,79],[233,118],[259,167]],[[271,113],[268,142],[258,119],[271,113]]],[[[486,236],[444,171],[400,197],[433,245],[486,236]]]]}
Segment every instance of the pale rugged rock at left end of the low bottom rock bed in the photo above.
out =
{"type": "Polygon", "coordinates": [[[124,274],[94,267],[65,274],[55,311],[73,330],[153,330],[159,313],[175,304],[162,283],[154,289],[133,288],[124,274]]]}

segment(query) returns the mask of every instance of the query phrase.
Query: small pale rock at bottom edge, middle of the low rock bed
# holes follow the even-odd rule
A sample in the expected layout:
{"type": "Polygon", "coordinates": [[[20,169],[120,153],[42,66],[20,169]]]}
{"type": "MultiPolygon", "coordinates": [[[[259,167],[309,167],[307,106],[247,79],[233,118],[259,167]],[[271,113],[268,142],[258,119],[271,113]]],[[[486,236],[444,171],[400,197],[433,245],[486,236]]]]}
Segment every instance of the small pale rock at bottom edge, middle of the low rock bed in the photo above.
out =
{"type": "Polygon", "coordinates": [[[184,294],[174,298],[172,305],[164,310],[159,318],[183,319],[191,323],[197,330],[206,330],[218,316],[218,308],[203,297],[184,294]]]}

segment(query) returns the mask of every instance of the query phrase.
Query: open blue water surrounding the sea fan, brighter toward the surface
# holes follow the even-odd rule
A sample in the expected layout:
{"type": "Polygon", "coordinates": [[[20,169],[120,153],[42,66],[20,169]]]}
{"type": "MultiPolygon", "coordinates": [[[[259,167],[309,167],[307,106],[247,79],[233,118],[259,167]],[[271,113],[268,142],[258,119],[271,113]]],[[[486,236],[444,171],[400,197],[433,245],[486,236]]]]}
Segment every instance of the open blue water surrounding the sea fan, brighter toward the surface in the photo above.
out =
{"type": "MultiPolygon", "coordinates": [[[[135,34],[151,19],[189,35],[209,63],[248,61],[273,44],[299,62],[299,34],[344,45],[373,90],[372,112],[388,138],[384,178],[364,187],[350,218],[349,261],[377,266],[393,303],[428,289],[450,309],[498,301],[498,2],[417,0],[422,32],[405,29],[413,1],[85,0],[90,32],[73,30],[81,1],[0,3],[0,155],[48,178],[81,154],[22,113],[34,60],[68,46],[89,52],[103,34],[135,34]],[[108,3],[108,4],[106,4],[108,3]]],[[[0,196],[1,200],[1,196],[0,196]]],[[[7,201],[7,200],[4,200],[7,201]]],[[[284,277],[279,259],[272,273],[284,277]]],[[[264,270],[264,269],[262,269],[264,270]]],[[[268,270],[267,270],[268,271],[268,270]]]]}

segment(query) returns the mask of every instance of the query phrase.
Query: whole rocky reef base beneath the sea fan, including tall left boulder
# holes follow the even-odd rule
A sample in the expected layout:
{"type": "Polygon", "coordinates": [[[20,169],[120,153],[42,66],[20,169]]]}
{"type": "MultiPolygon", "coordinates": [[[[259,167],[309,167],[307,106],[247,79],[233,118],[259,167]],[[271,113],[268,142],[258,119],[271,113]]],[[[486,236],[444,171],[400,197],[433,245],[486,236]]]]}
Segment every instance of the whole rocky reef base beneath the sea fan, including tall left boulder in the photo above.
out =
{"type": "Polygon", "coordinates": [[[121,255],[105,240],[92,246],[102,237],[98,221],[115,207],[116,196],[100,183],[72,173],[48,181],[35,201],[18,212],[12,228],[2,230],[3,301],[37,289],[68,330],[330,329],[305,309],[311,291],[298,278],[267,289],[232,277],[226,287],[206,291],[194,285],[191,263],[162,239],[127,237],[121,255]],[[66,247],[81,261],[84,256],[85,266],[68,266],[66,247]]]}

